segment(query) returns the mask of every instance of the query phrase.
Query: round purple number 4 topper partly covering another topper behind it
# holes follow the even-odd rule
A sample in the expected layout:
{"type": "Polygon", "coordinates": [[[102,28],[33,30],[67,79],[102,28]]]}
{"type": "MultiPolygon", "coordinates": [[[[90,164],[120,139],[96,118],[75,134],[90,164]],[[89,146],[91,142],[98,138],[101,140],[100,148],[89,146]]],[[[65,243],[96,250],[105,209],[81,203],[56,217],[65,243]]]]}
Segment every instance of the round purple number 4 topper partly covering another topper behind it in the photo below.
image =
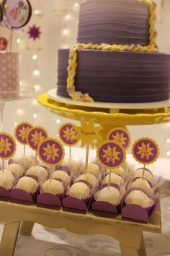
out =
{"type": "Polygon", "coordinates": [[[102,142],[97,149],[97,158],[102,166],[117,168],[125,162],[125,149],[110,140],[102,142]]]}

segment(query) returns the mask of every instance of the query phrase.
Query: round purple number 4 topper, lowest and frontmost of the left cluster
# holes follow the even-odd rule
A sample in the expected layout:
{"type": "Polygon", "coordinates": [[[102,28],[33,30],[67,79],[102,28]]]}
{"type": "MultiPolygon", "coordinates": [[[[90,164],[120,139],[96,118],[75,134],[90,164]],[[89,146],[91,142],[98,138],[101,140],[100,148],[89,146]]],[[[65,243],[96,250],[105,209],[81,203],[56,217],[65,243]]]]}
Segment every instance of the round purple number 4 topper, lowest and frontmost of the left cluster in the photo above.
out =
{"type": "Polygon", "coordinates": [[[63,161],[64,149],[61,142],[48,138],[40,142],[37,153],[43,163],[56,166],[63,161]]]}

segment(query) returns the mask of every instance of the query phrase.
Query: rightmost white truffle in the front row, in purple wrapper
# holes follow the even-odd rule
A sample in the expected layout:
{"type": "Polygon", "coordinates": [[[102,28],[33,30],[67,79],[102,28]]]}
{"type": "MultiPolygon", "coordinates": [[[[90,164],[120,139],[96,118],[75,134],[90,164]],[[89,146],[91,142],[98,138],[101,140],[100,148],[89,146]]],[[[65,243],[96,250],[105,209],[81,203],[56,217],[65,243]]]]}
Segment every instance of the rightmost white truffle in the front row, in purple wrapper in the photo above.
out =
{"type": "Polygon", "coordinates": [[[147,208],[151,205],[151,199],[140,190],[131,191],[125,198],[125,202],[127,204],[140,205],[143,208],[147,208]]]}

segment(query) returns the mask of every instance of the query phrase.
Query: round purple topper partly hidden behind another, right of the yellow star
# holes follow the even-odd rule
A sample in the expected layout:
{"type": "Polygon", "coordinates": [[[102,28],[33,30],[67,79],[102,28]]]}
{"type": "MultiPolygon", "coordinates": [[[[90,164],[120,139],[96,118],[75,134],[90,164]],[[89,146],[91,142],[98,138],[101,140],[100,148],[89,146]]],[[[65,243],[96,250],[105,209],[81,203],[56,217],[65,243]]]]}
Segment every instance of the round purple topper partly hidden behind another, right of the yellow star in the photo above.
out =
{"type": "Polygon", "coordinates": [[[122,147],[125,148],[125,150],[128,150],[131,142],[128,129],[124,128],[112,129],[107,135],[107,140],[113,140],[114,142],[121,144],[122,147]]]}

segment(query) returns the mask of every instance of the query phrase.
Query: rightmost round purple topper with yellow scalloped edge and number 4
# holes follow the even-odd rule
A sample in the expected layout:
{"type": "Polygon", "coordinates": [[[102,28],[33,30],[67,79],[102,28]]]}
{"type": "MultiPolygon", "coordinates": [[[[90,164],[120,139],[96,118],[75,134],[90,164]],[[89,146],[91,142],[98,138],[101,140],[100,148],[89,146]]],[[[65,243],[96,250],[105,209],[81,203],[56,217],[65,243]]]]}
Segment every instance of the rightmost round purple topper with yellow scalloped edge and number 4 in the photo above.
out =
{"type": "Polygon", "coordinates": [[[159,148],[154,140],[144,137],[135,141],[132,154],[139,163],[150,164],[158,158],[159,148]]]}

